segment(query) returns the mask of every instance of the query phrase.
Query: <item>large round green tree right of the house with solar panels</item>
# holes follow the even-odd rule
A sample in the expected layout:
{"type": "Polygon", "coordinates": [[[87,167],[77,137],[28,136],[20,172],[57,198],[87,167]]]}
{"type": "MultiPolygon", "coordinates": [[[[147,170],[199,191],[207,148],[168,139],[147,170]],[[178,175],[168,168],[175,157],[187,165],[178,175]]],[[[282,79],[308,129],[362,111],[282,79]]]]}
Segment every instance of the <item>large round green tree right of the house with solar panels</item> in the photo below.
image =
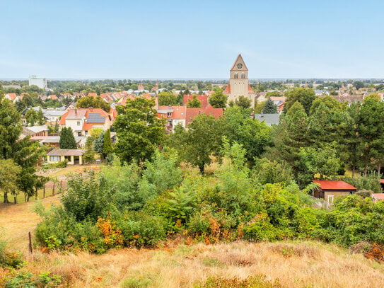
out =
{"type": "Polygon", "coordinates": [[[158,119],[153,109],[154,101],[144,97],[127,100],[127,105],[118,106],[115,120],[117,143],[115,153],[126,163],[133,159],[151,159],[165,136],[165,122],[158,119]]]}

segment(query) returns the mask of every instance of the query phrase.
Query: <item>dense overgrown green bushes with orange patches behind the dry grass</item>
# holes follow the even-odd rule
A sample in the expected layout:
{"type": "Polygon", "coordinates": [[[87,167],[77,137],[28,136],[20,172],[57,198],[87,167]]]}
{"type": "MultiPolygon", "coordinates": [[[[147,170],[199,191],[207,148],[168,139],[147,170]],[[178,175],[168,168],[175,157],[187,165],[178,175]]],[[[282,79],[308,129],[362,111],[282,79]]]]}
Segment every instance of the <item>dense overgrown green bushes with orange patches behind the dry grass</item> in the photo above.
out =
{"type": "Polygon", "coordinates": [[[213,175],[181,170],[173,151],[156,151],[151,161],[100,173],[74,175],[62,206],[43,217],[37,241],[47,249],[87,250],[151,247],[173,235],[186,242],[321,239],[351,246],[384,243],[384,204],[351,195],[327,211],[312,207],[310,185],[300,189],[289,168],[268,172],[268,161],[246,166],[247,152],[227,139],[213,175]],[[281,178],[284,175],[284,178],[281,178]],[[289,179],[291,178],[291,179],[289,179]]]}

